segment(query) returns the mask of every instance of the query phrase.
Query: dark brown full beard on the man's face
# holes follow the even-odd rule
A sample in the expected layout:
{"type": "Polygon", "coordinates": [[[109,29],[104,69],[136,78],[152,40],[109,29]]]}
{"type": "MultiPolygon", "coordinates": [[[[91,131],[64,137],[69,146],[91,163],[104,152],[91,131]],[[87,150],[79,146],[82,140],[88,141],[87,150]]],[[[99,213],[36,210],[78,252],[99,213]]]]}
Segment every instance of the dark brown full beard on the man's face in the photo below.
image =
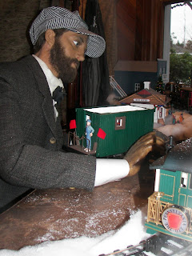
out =
{"type": "Polygon", "coordinates": [[[61,46],[59,38],[55,38],[54,46],[50,50],[50,64],[57,71],[58,78],[61,78],[63,83],[74,82],[79,62],[76,58],[66,57],[65,48],[61,46]],[[71,67],[73,62],[77,64],[77,69],[71,67]]]}

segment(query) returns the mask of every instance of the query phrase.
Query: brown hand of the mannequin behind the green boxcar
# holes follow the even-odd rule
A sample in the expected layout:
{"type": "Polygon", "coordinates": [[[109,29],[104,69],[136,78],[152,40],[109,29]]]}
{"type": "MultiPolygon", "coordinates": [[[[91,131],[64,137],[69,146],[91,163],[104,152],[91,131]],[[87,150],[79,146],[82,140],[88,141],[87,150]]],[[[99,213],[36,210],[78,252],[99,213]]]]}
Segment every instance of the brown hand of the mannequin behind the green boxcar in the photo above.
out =
{"type": "Polygon", "coordinates": [[[166,154],[166,141],[168,138],[159,132],[150,132],[138,139],[130,150],[127,151],[124,159],[129,162],[130,172],[128,176],[137,174],[140,170],[142,161],[150,151],[154,150],[158,154],[166,154]]]}

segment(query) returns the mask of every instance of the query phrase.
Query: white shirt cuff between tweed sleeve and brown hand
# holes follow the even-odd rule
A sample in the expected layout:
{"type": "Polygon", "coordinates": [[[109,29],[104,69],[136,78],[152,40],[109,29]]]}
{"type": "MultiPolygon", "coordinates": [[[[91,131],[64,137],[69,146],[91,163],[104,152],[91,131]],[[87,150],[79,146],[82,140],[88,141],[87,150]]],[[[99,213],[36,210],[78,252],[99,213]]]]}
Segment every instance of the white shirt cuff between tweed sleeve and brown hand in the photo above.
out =
{"type": "Polygon", "coordinates": [[[130,165],[125,159],[97,159],[94,186],[124,178],[129,171],[130,165]]]}

